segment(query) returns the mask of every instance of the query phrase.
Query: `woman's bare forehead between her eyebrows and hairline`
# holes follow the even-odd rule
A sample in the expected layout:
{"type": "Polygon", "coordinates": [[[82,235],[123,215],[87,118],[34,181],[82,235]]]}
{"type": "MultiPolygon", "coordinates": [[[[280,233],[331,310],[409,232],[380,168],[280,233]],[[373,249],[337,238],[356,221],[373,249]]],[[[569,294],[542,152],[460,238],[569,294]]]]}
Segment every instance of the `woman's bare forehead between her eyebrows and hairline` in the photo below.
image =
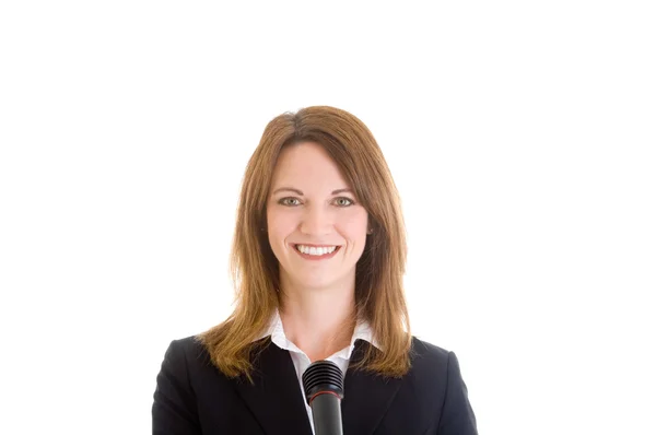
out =
{"type": "Polygon", "coordinates": [[[301,142],[285,146],[273,169],[273,187],[348,187],[339,166],[324,146],[301,142]],[[286,186],[290,185],[290,186],[286,186]],[[339,186],[337,186],[339,185],[339,186]]]}

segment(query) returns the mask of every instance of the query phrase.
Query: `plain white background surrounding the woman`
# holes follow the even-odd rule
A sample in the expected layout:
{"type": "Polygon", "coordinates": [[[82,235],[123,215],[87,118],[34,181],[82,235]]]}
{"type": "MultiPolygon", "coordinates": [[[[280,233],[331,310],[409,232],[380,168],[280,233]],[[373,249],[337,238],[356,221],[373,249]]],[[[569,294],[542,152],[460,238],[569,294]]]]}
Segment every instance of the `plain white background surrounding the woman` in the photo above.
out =
{"type": "Polygon", "coordinates": [[[332,105],[401,191],[413,332],[481,434],[655,434],[652,2],[0,7],[0,432],[150,433],[231,310],[247,158],[332,105]]]}

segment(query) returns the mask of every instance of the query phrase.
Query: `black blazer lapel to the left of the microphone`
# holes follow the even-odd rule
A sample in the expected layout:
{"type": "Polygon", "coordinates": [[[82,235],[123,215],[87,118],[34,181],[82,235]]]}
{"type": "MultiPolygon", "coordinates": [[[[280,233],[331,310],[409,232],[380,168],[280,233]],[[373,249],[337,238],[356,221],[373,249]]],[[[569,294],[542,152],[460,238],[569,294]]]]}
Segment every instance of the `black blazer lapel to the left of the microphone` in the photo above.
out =
{"type": "Polygon", "coordinates": [[[255,358],[254,368],[255,385],[243,377],[237,379],[235,388],[263,432],[312,435],[298,377],[289,352],[269,341],[255,358]]]}

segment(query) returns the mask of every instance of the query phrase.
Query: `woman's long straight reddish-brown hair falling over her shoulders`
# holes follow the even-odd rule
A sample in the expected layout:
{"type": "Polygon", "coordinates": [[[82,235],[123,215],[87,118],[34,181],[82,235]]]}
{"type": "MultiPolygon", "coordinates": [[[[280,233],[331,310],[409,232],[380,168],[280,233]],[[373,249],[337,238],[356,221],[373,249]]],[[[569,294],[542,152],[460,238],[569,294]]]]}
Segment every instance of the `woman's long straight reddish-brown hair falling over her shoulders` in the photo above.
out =
{"type": "Polygon", "coordinates": [[[368,212],[373,230],[355,267],[355,304],[356,316],[368,321],[382,351],[368,346],[353,367],[402,376],[410,368],[412,338],[402,286],[407,247],[398,191],[372,132],[335,107],[306,107],[267,125],[246,167],[237,209],[231,256],[235,309],[197,338],[223,374],[250,379],[254,351],[263,342],[258,339],[279,307],[279,264],[266,233],[269,188],[281,150],[300,142],[326,149],[368,212]]]}

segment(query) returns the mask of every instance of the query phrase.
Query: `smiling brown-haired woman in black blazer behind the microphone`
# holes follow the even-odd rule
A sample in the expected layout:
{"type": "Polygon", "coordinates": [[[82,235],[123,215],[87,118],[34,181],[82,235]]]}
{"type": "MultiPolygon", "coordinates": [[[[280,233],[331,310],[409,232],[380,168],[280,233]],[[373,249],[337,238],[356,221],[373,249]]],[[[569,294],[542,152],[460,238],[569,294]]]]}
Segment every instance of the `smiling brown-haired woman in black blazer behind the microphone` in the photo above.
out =
{"type": "Polygon", "coordinates": [[[154,434],[313,433],[301,376],[344,372],[344,434],[476,434],[452,352],[410,334],[403,220],[370,130],[332,107],[265,129],[243,183],[232,270],[237,304],[173,341],[154,434]]]}

